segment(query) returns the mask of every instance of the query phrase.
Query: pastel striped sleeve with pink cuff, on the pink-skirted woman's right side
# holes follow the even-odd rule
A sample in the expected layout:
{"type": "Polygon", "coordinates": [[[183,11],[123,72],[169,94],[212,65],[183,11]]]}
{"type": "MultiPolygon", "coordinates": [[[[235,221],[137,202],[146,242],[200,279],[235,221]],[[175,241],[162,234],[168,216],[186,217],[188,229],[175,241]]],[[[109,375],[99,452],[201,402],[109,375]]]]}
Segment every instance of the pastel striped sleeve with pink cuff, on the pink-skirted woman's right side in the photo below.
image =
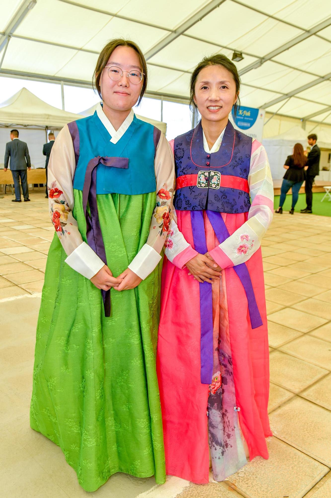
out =
{"type": "Polygon", "coordinates": [[[263,145],[253,140],[248,174],[251,206],[248,220],[209,254],[221,268],[247,261],[260,247],[273,214],[273,183],[263,145]]]}

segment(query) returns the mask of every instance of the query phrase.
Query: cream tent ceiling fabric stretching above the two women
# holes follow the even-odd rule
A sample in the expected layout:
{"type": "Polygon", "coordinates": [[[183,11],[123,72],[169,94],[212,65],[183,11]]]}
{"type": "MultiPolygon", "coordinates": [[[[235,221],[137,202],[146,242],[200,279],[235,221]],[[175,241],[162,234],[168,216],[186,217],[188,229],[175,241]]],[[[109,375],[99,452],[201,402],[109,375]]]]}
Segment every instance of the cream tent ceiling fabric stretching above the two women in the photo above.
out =
{"type": "Polygon", "coordinates": [[[149,56],[149,92],[187,99],[202,57],[239,50],[242,105],[331,124],[331,78],[318,82],[331,68],[330,0],[118,0],[116,12],[106,0],[34,1],[12,28],[27,0],[0,0],[0,75],[88,86],[102,46],[123,36],[149,56]]]}

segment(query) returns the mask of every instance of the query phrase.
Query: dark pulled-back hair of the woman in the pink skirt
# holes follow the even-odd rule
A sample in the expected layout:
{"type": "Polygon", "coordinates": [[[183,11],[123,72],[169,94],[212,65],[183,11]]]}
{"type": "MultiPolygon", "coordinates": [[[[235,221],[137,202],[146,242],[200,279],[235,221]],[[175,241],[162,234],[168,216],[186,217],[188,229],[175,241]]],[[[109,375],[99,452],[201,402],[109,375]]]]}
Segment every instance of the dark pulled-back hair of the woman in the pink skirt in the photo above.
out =
{"type": "Polygon", "coordinates": [[[234,112],[235,115],[237,114],[238,109],[240,108],[240,99],[239,99],[239,91],[240,91],[240,77],[238,74],[238,70],[236,65],[228,59],[223,54],[214,54],[211,55],[210,57],[204,57],[201,62],[194,68],[193,73],[191,74],[191,79],[190,79],[190,108],[191,111],[192,106],[197,109],[197,105],[194,102],[194,94],[195,94],[195,83],[198,78],[198,75],[202,69],[204,69],[207,66],[223,66],[225,69],[227,69],[233,76],[233,79],[235,80],[236,83],[236,95],[238,96],[237,102],[234,104],[234,112]]]}

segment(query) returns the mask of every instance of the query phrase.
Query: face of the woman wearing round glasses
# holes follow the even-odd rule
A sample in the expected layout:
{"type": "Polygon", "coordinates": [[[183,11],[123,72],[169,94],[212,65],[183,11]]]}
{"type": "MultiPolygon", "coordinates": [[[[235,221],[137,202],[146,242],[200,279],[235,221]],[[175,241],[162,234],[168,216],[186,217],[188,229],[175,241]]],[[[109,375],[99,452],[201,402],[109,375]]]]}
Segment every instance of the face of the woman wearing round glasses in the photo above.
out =
{"type": "Polygon", "coordinates": [[[131,83],[126,72],[134,69],[143,72],[138,53],[131,47],[118,46],[106,66],[116,66],[125,72],[118,81],[113,81],[108,76],[108,69],[103,69],[100,89],[104,106],[114,111],[129,111],[137,103],[143,85],[143,80],[138,85],[131,83]]]}

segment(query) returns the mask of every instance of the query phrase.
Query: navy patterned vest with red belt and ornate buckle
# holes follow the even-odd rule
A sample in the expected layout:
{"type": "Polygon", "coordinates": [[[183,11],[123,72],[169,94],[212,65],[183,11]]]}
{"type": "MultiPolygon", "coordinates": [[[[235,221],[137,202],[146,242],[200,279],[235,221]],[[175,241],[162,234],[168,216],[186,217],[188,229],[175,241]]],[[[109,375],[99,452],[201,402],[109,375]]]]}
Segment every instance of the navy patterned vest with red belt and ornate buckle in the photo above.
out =
{"type": "Polygon", "coordinates": [[[235,130],[230,121],[219,151],[211,154],[203,148],[201,122],[195,129],[177,136],[174,139],[175,209],[248,212],[251,143],[251,137],[235,130]]]}

